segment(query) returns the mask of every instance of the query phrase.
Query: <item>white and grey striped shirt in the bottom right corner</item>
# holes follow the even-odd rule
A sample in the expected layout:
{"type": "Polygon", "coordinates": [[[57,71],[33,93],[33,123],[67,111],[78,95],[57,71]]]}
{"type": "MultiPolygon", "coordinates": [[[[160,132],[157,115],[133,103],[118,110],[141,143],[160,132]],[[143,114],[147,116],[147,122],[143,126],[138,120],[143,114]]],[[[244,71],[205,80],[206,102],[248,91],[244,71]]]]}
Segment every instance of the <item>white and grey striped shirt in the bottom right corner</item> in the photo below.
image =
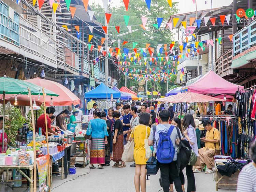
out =
{"type": "Polygon", "coordinates": [[[237,192],[256,192],[256,167],[249,163],[238,176],[237,192]]]}

